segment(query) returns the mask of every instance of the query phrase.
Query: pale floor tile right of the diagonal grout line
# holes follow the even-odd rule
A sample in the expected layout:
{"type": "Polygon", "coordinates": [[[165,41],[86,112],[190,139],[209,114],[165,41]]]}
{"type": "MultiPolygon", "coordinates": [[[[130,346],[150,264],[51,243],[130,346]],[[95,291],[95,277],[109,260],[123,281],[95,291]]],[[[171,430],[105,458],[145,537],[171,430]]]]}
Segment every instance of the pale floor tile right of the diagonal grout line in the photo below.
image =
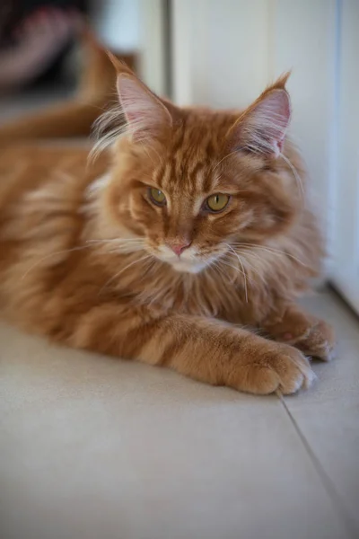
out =
{"type": "Polygon", "coordinates": [[[285,402],[359,536],[359,321],[331,295],[317,297],[311,310],[337,327],[337,358],[314,363],[318,382],[285,402]]]}

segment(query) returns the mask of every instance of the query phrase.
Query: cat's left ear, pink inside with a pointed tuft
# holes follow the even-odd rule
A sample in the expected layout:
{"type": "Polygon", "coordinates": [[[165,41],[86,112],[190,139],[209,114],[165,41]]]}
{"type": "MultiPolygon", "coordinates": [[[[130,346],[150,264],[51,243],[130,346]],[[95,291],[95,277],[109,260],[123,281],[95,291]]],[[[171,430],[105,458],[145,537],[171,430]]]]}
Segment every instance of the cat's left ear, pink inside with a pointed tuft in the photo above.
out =
{"type": "Polygon", "coordinates": [[[161,137],[171,128],[170,110],[129,67],[113,55],[109,57],[117,71],[118,99],[132,139],[142,142],[161,137]]]}

